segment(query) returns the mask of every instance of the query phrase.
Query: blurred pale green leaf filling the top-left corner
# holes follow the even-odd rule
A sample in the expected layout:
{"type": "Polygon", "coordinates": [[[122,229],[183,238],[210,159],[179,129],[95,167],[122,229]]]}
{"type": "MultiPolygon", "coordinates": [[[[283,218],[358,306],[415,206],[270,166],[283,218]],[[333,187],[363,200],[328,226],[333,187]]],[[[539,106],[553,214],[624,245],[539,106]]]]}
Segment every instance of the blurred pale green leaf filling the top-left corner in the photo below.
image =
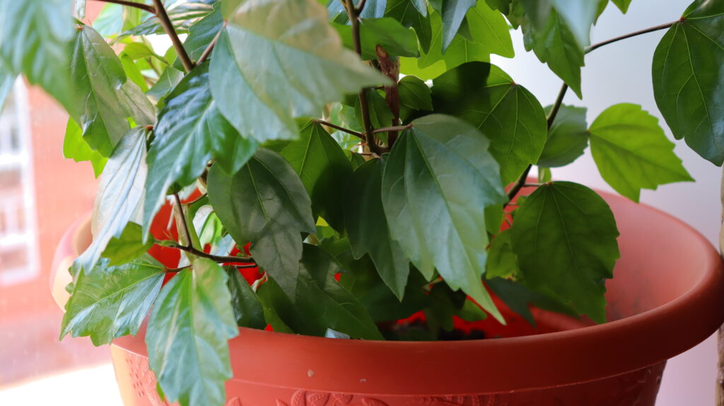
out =
{"type": "Polygon", "coordinates": [[[25,74],[69,111],[71,10],[71,0],[6,0],[0,7],[0,64],[11,74],[25,74]]]}

